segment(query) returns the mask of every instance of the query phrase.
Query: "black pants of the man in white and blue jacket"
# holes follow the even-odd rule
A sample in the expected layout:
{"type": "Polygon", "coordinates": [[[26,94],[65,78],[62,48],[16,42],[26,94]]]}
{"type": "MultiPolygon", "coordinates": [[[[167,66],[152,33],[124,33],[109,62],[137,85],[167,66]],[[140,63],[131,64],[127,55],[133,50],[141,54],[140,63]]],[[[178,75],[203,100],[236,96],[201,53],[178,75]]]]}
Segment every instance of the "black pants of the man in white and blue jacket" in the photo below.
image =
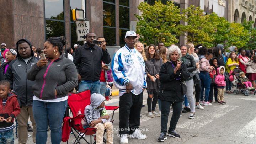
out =
{"type": "Polygon", "coordinates": [[[119,134],[132,134],[140,125],[143,92],[139,95],[124,93],[119,99],[119,134]]]}

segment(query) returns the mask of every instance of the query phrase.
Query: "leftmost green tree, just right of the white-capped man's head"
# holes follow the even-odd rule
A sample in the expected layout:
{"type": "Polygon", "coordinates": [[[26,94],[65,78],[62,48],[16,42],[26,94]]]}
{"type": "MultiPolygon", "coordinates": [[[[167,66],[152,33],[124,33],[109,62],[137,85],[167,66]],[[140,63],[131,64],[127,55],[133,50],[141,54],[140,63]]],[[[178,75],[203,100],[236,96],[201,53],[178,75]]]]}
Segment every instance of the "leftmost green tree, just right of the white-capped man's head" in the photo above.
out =
{"type": "Polygon", "coordinates": [[[136,15],[137,33],[140,37],[140,41],[147,44],[158,44],[160,41],[165,46],[177,43],[176,39],[176,23],[180,22],[181,15],[180,9],[174,6],[172,1],[167,1],[164,5],[162,2],[155,1],[154,5],[149,5],[146,2],[141,2],[138,9],[142,12],[142,15],[136,15]]]}

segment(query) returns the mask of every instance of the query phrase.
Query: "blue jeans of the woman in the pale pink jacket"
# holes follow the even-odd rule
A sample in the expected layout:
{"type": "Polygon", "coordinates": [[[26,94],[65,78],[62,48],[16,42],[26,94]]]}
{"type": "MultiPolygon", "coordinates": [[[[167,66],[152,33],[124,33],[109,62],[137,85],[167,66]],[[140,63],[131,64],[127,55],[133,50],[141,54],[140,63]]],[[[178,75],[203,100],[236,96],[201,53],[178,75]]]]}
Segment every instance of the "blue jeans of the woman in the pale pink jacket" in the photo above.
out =
{"type": "Polygon", "coordinates": [[[201,80],[201,97],[200,100],[203,101],[203,91],[204,92],[204,101],[208,102],[209,93],[210,93],[210,74],[207,71],[200,71],[199,73],[200,80],[201,80]]]}

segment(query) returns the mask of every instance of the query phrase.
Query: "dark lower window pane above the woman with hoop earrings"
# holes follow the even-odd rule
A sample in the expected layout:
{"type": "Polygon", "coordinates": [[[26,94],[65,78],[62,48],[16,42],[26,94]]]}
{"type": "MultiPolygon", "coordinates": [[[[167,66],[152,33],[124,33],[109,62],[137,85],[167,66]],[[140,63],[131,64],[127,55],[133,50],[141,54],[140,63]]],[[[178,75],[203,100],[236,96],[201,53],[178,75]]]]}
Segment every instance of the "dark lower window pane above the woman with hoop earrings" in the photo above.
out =
{"type": "Polygon", "coordinates": [[[46,39],[65,36],[64,22],[46,20],[46,39]]]}

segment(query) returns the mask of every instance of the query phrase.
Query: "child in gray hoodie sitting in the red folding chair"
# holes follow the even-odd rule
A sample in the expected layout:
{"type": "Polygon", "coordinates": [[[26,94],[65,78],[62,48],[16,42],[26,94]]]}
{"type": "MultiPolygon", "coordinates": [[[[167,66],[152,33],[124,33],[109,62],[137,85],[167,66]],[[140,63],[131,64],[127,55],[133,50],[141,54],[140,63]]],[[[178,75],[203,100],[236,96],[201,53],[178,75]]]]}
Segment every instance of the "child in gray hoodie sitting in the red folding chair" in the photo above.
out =
{"type": "Polygon", "coordinates": [[[83,127],[95,127],[96,144],[103,143],[104,130],[107,130],[107,144],[113,144],[113,125],[110,122],[110,116],[105,109],[105,97],[101,94],[93,93],[91,95],[91,104],[87,105],[84,110],[84,124],[83,127]]]}

